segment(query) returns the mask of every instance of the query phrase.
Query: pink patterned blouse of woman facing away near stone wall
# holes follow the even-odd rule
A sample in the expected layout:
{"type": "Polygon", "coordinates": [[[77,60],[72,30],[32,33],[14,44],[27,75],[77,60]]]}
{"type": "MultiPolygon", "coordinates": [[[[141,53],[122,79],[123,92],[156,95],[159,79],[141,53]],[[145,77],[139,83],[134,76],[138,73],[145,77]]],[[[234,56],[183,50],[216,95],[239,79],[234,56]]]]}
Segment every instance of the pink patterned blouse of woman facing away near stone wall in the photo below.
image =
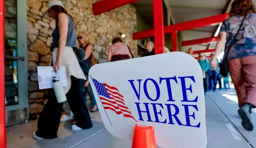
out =
{"type": "Polygon", "coordinates": [[[132,57],[130,50],[126,43],[117,42],[110,46],[109,50],[111,50],[112,56],[113,55],[129,55],[132,57]]]}

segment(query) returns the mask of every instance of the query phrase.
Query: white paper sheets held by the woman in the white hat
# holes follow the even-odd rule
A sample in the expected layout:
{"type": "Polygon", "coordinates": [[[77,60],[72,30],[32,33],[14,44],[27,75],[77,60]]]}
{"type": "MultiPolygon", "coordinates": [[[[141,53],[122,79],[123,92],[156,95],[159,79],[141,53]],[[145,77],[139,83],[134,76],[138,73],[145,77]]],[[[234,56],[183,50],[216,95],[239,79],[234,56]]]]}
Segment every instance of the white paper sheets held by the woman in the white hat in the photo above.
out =
{"type": "Polygon", "coordinates": [[[56,77],[57,80],[60,80],[63,87],[67,86],[65,66],[61,66],[57,73],[55,73],[53,67],[51,66],[38,66],[37,73],[39,89],[52,88],[53,77],[56,77]]]}

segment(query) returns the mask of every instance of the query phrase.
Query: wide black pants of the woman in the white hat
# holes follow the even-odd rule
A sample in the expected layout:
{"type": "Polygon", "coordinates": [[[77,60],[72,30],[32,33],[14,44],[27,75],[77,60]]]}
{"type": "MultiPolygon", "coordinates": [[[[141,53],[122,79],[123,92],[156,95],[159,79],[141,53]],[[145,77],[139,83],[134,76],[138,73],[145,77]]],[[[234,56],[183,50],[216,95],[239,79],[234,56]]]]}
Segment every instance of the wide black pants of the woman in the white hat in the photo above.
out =
{"type": "MultiPolygon", "coordinates": [[[[81,88],[84,87],[81,81],[83,80],[71,77],[71,87],[66,97],[70,109],[78,121],[76,125],[82,129],[88,129],[92,128],[92,121],[84,100],[85,92],[81,91],[81,88]]],[[[48,90],[48,96],[48,102],[38,118],[36,135],[41,138],[52,139],[57,138],[63,103],[57,102],[53,89],[48,90]]]]}

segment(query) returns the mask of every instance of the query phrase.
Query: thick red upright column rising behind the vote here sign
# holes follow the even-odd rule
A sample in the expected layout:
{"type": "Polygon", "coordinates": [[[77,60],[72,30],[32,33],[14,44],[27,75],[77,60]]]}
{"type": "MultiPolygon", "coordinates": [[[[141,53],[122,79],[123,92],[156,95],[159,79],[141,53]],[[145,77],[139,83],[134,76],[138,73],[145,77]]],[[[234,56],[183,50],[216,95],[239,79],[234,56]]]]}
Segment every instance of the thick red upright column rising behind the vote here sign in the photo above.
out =
{"type": "Polygon", "coordinates": [[[164,53],[164,20],[162,0],[153,0],[155,53],[164,53]]]}

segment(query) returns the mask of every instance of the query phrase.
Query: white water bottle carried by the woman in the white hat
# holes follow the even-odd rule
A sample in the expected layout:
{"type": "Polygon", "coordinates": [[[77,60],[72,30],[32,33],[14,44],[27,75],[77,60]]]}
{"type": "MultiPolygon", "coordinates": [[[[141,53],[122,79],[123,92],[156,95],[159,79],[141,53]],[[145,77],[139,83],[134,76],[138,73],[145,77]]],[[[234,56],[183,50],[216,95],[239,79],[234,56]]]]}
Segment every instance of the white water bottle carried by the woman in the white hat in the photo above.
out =
{"type": "Polygon", "coordinates": [[[56,77],[53,77],[52,86],[54,89],[57,102],[62,103],[67,101],[66,94],[64,93],[62,83],[60,82],[60,80],[57,80],[56,77]]]}

